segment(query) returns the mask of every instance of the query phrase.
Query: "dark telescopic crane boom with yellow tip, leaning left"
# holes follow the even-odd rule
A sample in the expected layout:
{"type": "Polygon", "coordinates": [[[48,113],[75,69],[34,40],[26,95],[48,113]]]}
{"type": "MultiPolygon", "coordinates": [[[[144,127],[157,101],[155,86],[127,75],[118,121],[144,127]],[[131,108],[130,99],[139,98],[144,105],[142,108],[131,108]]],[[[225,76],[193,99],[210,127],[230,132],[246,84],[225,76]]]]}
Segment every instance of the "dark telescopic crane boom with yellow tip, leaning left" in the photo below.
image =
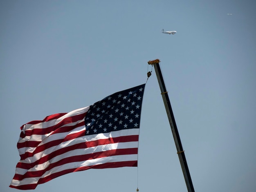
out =
{"type": "Polygon", "coordinates": [[[165,109],[166,109],[166,113],[167,113],[167,116],[168,116],[169,123],[171,125],[171,131],[173,133],[174,142],[175,142],[175,145],[176,145],[176,148],[177,148],[177,154],[178,154],[179,159],[180,159],[180,165],[181,165],[182,172],[183,172],[183,175],[184,175],[184,179],[185,179],[185,182],[186,182],[186,187],[188,189],[188,192],[195,192],[194,187],[193,187],[193,183],[192,183],[192,180],[191,180],[191,176],[190,176],[190,173],[189,173],[189,167],[188,167],[188,164],[186,163],[186,157],[185,157],[185,154],[184,154],[184,150],[182,148],[182,143],[180,141],[180,136],[179,136],[179,132],[178,132],[178,129],[177,129],[177,125],[175,123],[173,110],[171,108],[171,103],[170,103],[170,100],[169,100],[168,92],[166,91],[166,87],[165,87],[165,84],[164,84],[164,78],[162,76],[162,72],[161,72],[161,69],[160,69],[160,66],[159,66],[159,62],[160,62],[159,59],[148,61],[148,65],[154,65],[154,68],[155,68],[157,80],[158,80],[159,87],[160,87],[160,90],[161,90],[161,94],[162,94],[162,97],[163,97],[163,100],[164,100],[164,106],[165,106],[165,109]]]}

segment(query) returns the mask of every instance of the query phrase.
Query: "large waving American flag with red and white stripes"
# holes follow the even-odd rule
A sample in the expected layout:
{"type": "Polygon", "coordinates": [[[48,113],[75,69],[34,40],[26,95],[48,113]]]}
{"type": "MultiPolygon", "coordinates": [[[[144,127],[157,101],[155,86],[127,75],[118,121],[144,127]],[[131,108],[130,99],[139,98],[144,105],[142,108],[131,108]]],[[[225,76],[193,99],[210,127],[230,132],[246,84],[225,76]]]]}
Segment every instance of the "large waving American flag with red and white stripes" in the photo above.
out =
{"type": "Polygon", "coordinates": [[[20,161],[11,188],[35,189],[58,176],[88,169],[137,167],[145,84],[93,105],[20,127],[20,161]]]}

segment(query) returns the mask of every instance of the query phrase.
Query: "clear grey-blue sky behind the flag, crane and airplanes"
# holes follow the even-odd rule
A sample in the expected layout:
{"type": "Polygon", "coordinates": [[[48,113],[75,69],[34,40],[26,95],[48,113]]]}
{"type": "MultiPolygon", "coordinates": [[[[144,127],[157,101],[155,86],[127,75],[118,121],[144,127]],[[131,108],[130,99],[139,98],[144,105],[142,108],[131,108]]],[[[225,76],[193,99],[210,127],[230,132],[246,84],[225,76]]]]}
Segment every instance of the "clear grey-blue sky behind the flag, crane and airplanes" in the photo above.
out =
{"type": "MultiPolygon", "coordinates": [[[[0,191],[17,191],[21,125],[141,85],[158,58],[195,191],[254,192],[255,9],[253,0],[0,1],[0,191]]],[[[186,192],[154,69],[140,128],[138,170],[75,172],[34,192],[135,192],[137,181],[140,192],[186,192]]]]}

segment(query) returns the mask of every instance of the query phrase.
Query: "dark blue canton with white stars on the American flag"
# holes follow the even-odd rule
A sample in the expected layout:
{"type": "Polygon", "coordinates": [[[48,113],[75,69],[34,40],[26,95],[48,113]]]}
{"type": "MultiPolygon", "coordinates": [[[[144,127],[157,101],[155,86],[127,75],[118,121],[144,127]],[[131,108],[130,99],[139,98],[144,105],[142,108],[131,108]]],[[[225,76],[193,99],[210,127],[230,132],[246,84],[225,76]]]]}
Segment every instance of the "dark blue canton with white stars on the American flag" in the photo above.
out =
{"type": "Polygon", "coordinates": [[[112,94],[90,106],[86,135],[139,128],[145,84],[112,94]]]}

